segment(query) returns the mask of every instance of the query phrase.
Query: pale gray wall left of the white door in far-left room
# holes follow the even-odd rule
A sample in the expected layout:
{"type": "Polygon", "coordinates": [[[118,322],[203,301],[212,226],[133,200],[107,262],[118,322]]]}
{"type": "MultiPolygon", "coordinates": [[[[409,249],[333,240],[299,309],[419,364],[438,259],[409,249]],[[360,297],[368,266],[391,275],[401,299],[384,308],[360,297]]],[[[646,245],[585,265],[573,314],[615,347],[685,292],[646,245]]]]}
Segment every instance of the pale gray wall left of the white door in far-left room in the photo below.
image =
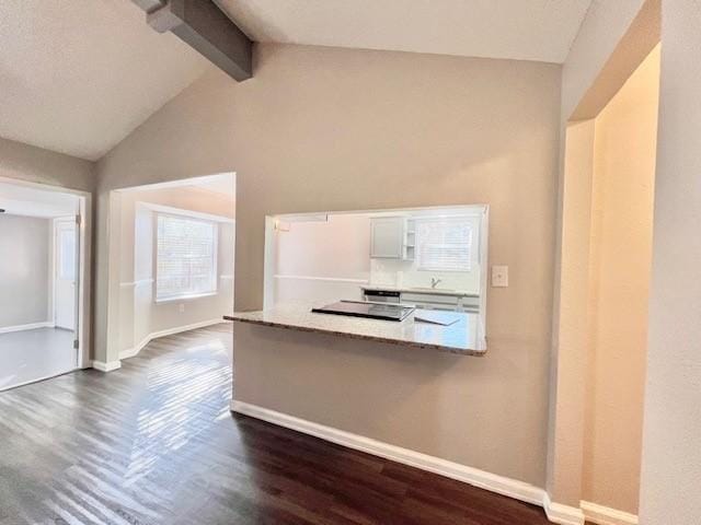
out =
{"type": "Polygon", "coordinates": [[[0,214],[0,328],[50,320],[50,221],[0,214]]]}

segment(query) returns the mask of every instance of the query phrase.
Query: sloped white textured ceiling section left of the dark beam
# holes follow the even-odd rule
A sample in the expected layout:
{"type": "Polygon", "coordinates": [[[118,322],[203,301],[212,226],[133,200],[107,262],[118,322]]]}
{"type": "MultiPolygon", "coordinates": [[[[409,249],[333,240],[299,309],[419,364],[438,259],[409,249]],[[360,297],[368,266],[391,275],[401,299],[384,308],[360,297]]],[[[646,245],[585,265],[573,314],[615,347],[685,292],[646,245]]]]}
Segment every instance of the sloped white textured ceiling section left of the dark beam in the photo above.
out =
{"type": "Polygon", "coordinates": [[[0,1],[0,137],[96,160],[208,62],[129,0],[0,1]]]}

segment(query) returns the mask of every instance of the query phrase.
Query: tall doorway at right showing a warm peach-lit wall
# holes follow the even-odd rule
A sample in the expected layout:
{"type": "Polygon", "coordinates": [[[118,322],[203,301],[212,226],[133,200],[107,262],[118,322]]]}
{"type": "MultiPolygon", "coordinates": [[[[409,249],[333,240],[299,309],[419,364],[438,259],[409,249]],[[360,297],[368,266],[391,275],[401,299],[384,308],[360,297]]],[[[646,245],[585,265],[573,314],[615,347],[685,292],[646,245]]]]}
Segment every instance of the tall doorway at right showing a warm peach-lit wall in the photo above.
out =
{"type": "Polygon", "coordinates": [[[587,518],[639,512],[659,71],[656,45],[589,118],[566,126],[556,329],[559,366],[575,358],[582,385],[567,410],[583,415],[587,518]]]}

